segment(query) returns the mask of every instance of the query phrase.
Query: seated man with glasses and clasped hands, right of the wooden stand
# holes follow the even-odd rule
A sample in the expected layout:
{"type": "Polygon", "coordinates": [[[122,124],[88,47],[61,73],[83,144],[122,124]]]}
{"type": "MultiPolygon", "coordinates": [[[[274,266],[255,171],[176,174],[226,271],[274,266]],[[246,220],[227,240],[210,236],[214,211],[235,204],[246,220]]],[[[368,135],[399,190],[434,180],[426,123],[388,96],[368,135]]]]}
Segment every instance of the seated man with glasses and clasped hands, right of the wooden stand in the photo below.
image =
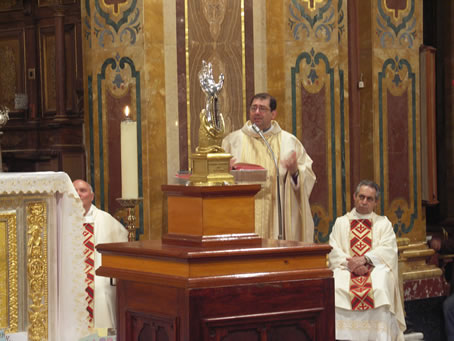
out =
{"type": "Polygon", "coordinates": [[[330,234],[337,340],[403,340],[397,242],[391,222],[375,214],[380,188],[362,180],[355,208],[336,219],[330,234]]]}

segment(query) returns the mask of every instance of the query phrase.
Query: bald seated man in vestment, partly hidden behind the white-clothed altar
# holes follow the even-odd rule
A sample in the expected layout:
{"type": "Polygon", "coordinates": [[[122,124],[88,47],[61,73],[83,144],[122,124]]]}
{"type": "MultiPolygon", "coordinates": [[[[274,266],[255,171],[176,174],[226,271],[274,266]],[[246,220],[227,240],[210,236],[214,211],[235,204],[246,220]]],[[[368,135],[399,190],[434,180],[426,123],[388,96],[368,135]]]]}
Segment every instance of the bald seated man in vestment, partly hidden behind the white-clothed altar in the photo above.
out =
{"type": "Polygon", "coordinates": [[[86,302],[89,328],[116,328],[116,290],[110,278],[95,276],[101,265],[101,254],[95,246],[101,243],[127,242],[128,231],[109,213],[92,204],[95,194],[87,182],[73,182],[84,207],[84,256],[86,302]]]}

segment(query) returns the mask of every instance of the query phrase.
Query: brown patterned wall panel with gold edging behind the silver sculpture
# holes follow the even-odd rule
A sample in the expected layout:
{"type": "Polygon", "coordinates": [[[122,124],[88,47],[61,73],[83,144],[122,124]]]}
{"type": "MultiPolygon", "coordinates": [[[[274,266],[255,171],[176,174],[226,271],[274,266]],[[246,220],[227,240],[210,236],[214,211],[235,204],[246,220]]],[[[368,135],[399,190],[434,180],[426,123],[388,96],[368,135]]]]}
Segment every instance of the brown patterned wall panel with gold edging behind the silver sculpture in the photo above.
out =
{"type": "Polygon", "coordinates": [[[246,65],[252,63],[251,19],[251,0],[177,1],[177,22],[185,23],[184,27],[177,24],[179,87],[183,89],[179,98],[186,100],[179,107],[180,169],[190,168],[190,154],[198,145],[199,115],[205,106],[198,78],[202,60],[213,64],[215,77],[225,76],[219,102],[226,133],[244,124],[247,97],[253,92],[253,68],[246,65]]]}

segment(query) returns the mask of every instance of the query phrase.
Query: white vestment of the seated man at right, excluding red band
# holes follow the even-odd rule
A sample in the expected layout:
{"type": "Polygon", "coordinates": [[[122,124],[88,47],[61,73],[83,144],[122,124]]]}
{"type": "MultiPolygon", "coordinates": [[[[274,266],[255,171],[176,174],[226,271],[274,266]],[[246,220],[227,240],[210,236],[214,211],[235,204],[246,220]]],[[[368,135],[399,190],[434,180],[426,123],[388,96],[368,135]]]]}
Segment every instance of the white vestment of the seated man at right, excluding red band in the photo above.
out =
{"type": "Polygon", "coordinates": [[[403,340],[405,318],[398,281],[396,235],[387,217],[374,212],[363,215],[356,209],[336,219],[330,234],[329,267],[334,272],[336,339],[338,340],[403,340]],[[352,220],[372,222],[372,247],[365,254],[374,264],[371,272],[374,309],[352,310],[350,271],[347,258],[350,249],[352,220]]]}

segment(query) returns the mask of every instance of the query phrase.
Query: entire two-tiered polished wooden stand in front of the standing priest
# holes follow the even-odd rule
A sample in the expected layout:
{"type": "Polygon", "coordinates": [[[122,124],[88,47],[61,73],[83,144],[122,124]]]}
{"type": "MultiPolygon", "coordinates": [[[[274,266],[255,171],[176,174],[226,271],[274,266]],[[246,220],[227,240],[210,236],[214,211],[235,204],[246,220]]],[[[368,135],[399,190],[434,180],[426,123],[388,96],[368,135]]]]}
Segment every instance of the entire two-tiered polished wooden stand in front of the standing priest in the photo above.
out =
{"type": "Polygon", "coordinates": [[[98,245],[121,341],[335,339],[328,245],[254,232],[260,185],[163,185],[162,240],[98,245]]]}

